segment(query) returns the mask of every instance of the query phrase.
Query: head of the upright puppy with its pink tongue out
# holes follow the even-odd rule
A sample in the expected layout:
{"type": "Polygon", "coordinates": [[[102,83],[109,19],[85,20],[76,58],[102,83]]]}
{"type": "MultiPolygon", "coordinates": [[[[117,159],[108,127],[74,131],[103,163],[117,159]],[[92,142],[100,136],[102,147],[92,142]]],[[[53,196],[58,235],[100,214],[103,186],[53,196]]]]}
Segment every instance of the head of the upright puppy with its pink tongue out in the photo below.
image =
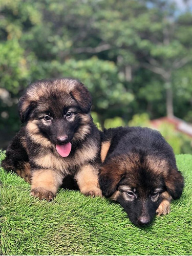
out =
{"type": "Polygon", "coordinates": [[[90,109],[89,91],[73,79],[37,81],[19,101],[20,120],[27,124],[28,135],[46,146],[58,145],[61,155],[70,151],[69,143],[90,132],[90,109]]]}

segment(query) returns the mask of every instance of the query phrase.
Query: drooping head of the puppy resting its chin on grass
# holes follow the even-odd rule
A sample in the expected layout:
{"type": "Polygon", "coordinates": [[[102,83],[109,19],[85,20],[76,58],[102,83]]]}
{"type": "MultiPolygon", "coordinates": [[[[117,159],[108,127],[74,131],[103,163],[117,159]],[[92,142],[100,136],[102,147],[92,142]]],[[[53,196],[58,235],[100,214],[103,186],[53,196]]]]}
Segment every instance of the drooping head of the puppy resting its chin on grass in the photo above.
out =
{"type": "Polygon", "coordinates": [[[121,155],[106,161],[99,174],[105,197],[118,201],[137,226],[148,225],[163,199],[178,199],[183,177],[166,159],[139,154],[121,155]],[[170,195],[170,196],[169,196],[170,195]]]}

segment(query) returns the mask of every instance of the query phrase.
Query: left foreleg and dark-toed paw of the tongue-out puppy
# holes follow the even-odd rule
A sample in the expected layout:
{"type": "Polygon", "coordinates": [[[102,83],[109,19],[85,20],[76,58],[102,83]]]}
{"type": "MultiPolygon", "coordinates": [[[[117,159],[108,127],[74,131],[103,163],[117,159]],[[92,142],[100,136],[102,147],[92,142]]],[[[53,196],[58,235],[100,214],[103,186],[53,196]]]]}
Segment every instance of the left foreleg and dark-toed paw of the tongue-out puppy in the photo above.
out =
{"type": "Polygon", "coordinates": [[[51,201],[62,184],[62,175],[50,169],[33,169],[31,178],[31,195],[51,201]]]}

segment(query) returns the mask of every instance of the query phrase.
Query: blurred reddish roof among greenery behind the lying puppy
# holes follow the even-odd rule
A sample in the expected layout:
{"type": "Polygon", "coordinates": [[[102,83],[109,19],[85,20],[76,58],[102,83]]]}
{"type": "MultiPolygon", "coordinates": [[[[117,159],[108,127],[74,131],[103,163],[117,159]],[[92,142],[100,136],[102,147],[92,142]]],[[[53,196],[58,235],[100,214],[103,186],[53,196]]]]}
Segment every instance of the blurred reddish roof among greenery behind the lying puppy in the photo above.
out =
{"type": "Polygon", "coordinates": [[[175,116],[173,117],[161,117],[158,119],[151,120],[152,126],[157,128],[161,123],[170,123],[173,124],[175,130],[178,132],[184,133],[192,138],[192,124],[183,121],[175,116]]]}

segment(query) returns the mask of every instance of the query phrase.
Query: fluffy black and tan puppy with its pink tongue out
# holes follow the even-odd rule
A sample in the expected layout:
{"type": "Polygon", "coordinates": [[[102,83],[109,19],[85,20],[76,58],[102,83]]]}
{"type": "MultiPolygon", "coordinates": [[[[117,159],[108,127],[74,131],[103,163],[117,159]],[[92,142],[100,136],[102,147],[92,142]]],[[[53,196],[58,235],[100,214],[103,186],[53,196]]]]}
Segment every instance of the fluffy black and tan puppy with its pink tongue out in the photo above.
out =
{"type": "Polygon", "coordinates": [[[72,175],[81,193],[101,195],[98,185],[100,132],[90,115],[91,95],[77,80],[32,83],[19,100],[22,129],[2,166],[31,183],[31,195],[52,200],[72,175]]]}

